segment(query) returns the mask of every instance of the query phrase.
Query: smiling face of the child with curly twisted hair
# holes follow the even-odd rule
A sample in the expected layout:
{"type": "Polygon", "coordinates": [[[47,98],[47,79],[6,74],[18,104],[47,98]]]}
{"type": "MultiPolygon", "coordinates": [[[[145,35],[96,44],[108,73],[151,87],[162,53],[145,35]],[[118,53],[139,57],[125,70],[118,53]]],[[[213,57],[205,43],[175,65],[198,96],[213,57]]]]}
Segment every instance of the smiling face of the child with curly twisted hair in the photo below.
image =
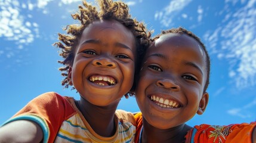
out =
{"type": "Polygon", "coordinates": [[[95,21],[82,33],[69,77],[94,105],[119,102],[134,80],[135,38],[118,21],[95,21]]]}

